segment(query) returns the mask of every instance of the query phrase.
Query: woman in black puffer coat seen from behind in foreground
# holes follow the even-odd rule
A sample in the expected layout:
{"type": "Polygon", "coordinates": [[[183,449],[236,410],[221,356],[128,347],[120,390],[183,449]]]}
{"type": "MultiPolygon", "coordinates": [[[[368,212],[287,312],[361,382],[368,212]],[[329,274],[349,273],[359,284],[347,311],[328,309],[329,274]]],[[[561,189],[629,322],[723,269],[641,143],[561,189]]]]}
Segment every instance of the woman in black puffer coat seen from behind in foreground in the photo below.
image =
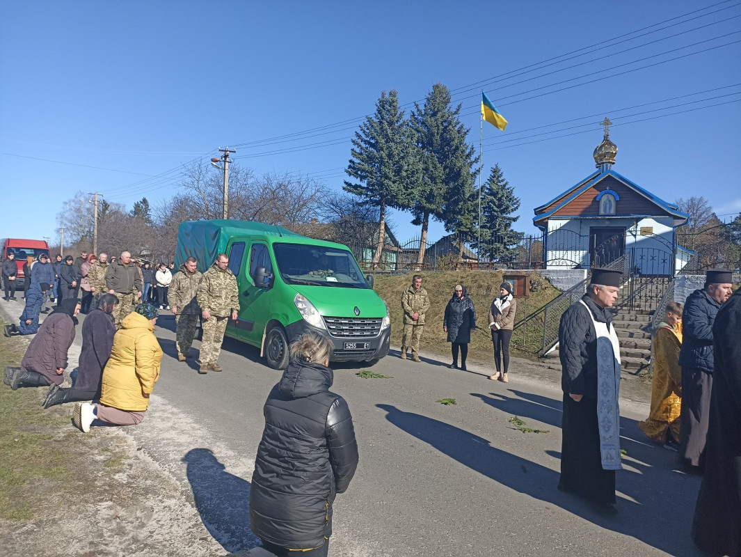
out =
{"type": "Polygon", "coordinates": [[[330,340],[316,334],[296,340],[288,368],[265,401],[250,528],[279,557],[328,555],[332,504],[358,464],[350,409],[329,390],[331,350],[330,340]]]}

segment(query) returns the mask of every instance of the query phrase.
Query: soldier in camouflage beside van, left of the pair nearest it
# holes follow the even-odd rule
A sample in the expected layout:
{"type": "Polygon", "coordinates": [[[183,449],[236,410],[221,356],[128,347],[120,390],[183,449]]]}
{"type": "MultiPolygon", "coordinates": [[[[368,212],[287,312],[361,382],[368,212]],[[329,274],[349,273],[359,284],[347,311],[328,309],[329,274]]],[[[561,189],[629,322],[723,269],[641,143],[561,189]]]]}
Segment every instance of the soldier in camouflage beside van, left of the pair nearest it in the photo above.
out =
{"type": "Polygon", "coordinates": [[[198,318],[201,314],[196,296],[203,274],[198,270],[197,265],[195,257],[188,257],[180,266],[180,271],[173,277],[170,291],[167,294],[170,310],[175,314],[177,324],[175,342],[179,362],[185,362],[190,356],[190,345],[193,344],[193,337],[196,336],[196,326],[198,326],[198,318]]]}

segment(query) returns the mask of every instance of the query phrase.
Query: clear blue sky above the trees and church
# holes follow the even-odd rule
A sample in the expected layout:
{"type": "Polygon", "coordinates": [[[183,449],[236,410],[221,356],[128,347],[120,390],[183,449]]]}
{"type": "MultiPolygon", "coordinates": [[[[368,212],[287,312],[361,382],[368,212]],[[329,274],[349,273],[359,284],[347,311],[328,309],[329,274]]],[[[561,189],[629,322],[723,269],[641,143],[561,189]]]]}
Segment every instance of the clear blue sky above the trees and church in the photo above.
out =
{"type": "MultiPolygon", "coordinates": [[[[508,119],[485,124],[483,176],[502,167],[519,230],[591,174],[605,116],[616,171],[727,220],[741,211],[740,41],[735,0],[4,2],[0,237],[56,237],[76,191],[154,204],[180,165],[225,145],[258,174],[339,190],[381,91],[409,107],[435,82],[476,151],[482,90],[508,119]]],[[[419,234],[392,219],[399,240],[419,234]]]]}

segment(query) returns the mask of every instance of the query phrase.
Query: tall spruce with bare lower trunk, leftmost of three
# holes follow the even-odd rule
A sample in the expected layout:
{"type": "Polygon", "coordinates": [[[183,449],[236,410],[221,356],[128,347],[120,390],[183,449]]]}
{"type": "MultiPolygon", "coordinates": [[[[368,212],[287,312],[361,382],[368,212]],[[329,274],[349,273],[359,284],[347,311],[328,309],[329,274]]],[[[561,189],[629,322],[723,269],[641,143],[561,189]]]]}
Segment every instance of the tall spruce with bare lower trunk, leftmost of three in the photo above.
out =
{"type": "Polygon", "coordinates": [[[419,181],[419,159],[396,90],[385,91],[376,101],[373,116],[366,116],[352,139],[352,158],[345,173],[345,191],[379,208],[379,234],[373,263],[379,263],[385,242],[386,208],[408,208],[419,181]]]}

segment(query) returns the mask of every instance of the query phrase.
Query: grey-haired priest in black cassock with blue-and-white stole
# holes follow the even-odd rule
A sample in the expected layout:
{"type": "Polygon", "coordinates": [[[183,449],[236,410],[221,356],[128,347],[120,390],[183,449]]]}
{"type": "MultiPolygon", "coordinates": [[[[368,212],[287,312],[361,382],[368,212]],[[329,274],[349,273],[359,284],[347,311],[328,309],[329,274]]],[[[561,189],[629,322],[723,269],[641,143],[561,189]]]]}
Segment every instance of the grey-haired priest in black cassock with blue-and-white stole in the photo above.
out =
{"type": "Polygon", "coordinates": [[[620,349],[609,308],[620,271],[592,269],[591,283],[559,324],[563,390],[561,478],[558,488],[614,514],[620,462],[620,349]]]}

